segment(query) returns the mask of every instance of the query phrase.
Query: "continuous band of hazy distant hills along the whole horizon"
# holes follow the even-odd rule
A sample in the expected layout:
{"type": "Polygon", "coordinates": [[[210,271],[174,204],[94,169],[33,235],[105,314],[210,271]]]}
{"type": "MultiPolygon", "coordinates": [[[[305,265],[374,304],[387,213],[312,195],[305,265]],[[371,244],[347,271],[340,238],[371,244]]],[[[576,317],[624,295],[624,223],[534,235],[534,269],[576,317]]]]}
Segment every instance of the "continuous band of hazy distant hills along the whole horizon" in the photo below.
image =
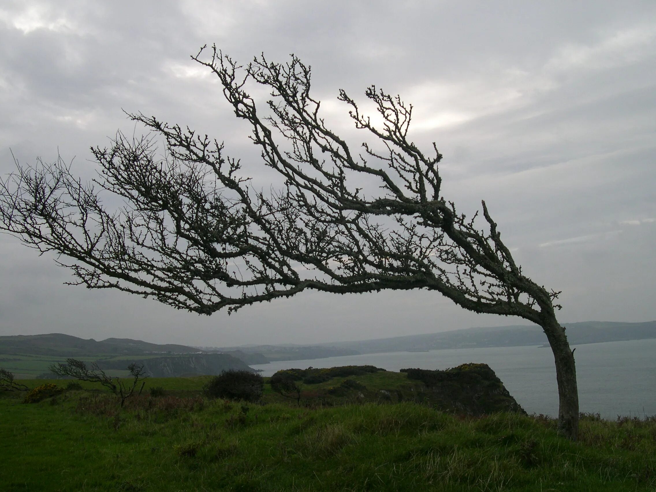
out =
{"type": "MultiPolygon", "coordinates": [[[[625,323],[615,321],[584,321],[564,323],[569,344],[572,346],[615,342],[619,340],[644,340],[656,338],[656,321],[625,323]]],[[[39,355],[108,359],[117,356],[170,356],[192,354],[216,354],[239,359],[246,364],[262,364],[268,361],[320,359],[334,356],[398,352],[402,350],[435,350],[441,348],[480,348],[545,345],[546,337],[537,325],[512,325],[488,328],[469,328],[424,335],[376,338],[356,342],[331,342],[313,346],[299,345],[249,345],[241,347],[195,348],[176,344],[154,344],[130,338],[107,338],[100,342],[89,338],[73,337],[62,333],[47,335],[13,335],[0,337],[0,354],[39,355]],[[96,357],[97,356],[97,357],[96,357]]]]}

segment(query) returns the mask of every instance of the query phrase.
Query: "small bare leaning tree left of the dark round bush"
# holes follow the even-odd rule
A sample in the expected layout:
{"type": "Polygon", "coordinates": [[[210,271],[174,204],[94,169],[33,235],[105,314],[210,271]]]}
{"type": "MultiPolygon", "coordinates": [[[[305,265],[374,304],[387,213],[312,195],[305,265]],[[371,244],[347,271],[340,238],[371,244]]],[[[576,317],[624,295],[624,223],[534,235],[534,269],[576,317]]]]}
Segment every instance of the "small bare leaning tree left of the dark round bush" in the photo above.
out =
{"type": "Polygon", "coordinates": [[[127,370],[130,371],[130,375],[132,376],[132,384],[121,380],[119,377],[114,379],[106,375],[105,371],[100,369],[95,362],[91,364],[91,369],[87,367],[85,362],[70,358],[66,359],[65,364],[57,362],[50,366],[51,373],[58,376],[74,377],[81,381],[99,382],[121,399],[121,407],[125,403],[125,400],[133,396],[134,390],[136,390],[136,386],[140,381],[141,388],[139,388],[139,394],[141,394],[144,384],[146,384],[145,379],[148,378],[143,364],[133,362],[128,365],[127,370]]]}

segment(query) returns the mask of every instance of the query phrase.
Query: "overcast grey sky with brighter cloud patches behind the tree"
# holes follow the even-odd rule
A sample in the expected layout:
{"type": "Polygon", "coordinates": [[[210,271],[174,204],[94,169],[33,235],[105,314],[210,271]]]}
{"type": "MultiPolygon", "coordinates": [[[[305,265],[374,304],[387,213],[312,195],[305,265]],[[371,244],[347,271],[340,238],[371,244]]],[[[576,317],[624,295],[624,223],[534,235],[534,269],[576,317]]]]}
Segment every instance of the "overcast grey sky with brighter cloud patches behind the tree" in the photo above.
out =
{"type": "MultiPolygon", "coordinates": [[[[401,94],[412,138],[444,155],[445,197],[467,215],[485,199],[524,271],[562,291],[563,323],[656,319],[656,2],[3,0],[0,174],[12,152],[59,152],[93,176],[89,146],[142,132],[123,108],[225,140],[257,177],[249,130],[190,60],[205,43],[243,62],[300,56],[355,146],[338,89],[401,94]]],[[[0,335],[228,346],[526,324],[424,291],[307,292],[199,317],[62,285],[72,276],[52,256],[5,234],[0,279],[0,335]]]]}

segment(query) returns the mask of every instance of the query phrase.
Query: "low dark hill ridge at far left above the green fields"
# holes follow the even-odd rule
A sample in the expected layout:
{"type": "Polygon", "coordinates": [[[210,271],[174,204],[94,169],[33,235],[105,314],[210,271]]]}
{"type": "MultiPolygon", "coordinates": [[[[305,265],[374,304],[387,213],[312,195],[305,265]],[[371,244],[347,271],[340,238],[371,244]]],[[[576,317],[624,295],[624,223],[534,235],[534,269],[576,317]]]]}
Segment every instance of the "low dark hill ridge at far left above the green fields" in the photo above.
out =
{"type": "Polygon", "coordinates": [[[0,337],[0,354],[34,354],[75,357],[92,354],[195,354],[201,350],[186,345],[155,344],[130,338],[108,338],[100,342],[63,333],[10,335],[0,337]]]}

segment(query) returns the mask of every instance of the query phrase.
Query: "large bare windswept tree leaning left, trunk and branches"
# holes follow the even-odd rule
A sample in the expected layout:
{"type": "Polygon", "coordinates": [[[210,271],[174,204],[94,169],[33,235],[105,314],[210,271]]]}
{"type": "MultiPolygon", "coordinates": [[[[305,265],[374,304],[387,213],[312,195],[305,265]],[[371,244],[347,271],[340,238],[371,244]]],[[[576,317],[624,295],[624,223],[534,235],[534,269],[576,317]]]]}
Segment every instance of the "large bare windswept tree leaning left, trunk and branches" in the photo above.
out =
{"type": "Polygon", "coordinates": [[[258,190],[224,146],[188,127],[129,116],[150,136],[118,133],[91,149],[99,178],[85,184],[61,160],[18,166],[0,189],[0,228],[54,251],[91,289],[154,297],[199,314],[228,312],[306,289],[365,293],[428,289],[478,313],[540,325],[558,378],[558,426],[577,436],[575,363],[558,323],[558,292],[522,272],[485,202],[466,217],[441,190],[442,155],[409,137],[412,106],[376,87],[365,115],[340,91],[361,150],[335,134],[310,93],[310,67],[256,57],[239,66],[215,47],[192,58],[213,72],[262,163],[281,187],[258,190]],[[256,108],[251,85],[270,92],[256,108]],[[156,139],[165,143],[164,157],[156,139]],[[108,210],[110,192],[127,204],[108,210]],[[70,258],[66,261],[62,258],[70,258]]]}

